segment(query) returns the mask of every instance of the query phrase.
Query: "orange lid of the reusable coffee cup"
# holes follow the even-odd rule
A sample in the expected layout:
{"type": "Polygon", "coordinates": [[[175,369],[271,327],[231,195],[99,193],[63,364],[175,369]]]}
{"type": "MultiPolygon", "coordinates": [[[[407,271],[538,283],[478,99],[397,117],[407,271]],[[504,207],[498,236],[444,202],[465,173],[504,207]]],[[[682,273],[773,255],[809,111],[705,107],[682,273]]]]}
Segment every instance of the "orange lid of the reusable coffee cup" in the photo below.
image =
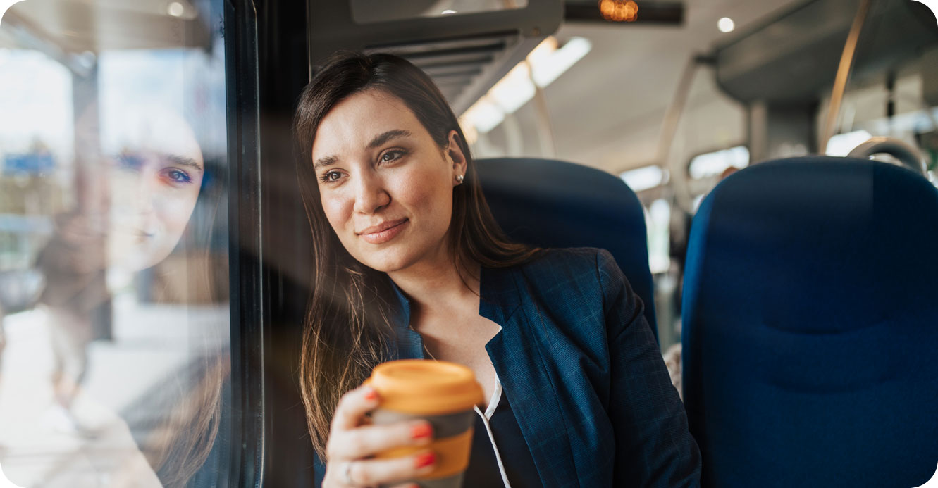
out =
{"type": "Polygon", "coordinates": [[[365,381],[381,407],[416,415],[446,415],[484,400],[472,370],[455,362],[400,360],[378,364],[365,381]]]}

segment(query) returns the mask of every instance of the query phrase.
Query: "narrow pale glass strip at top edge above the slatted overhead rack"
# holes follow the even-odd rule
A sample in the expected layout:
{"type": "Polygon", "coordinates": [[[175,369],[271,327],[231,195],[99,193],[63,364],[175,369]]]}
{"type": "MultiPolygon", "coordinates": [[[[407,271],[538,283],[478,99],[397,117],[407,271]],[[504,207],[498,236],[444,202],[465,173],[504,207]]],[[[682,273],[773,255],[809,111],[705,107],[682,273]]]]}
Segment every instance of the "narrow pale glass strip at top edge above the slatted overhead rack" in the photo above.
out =
{"type": "Polygon", "coordinates": [[[492,10],[527,7],[527,0],[421,0],[417,2],[384,2],[382,0],[351,0],[352,17],[358,23],[400,21],[416,17],[441,17],[492,10]]]}

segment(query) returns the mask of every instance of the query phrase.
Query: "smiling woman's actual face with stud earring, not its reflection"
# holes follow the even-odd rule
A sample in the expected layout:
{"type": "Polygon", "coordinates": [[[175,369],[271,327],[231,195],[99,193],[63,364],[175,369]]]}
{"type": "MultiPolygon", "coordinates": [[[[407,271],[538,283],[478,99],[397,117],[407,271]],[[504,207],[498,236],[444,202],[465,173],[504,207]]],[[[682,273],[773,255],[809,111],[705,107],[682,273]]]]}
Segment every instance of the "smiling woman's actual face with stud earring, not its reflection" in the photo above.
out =
{"type": "Polygon", "coordinates": [[[399,98],[373,90],[326,114],[312,163],[325,217],[353,258],[387,273],[446,259],[466,166],[456,134],[441,148],[399,98]]]}

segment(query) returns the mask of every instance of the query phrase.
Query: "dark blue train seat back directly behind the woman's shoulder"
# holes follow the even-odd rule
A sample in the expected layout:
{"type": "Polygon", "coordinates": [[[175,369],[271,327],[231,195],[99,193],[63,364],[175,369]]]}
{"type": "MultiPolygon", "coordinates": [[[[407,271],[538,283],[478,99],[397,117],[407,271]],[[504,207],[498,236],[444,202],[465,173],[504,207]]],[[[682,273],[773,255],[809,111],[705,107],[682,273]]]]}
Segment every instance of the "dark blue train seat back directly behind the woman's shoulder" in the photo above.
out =
{"type": "Polygon", "coordinates": [[[478,159],[477,170],[492,214],[514,241],[609,250],[658,337],[643,207],[622,179],[535,158],[478,159]]]}

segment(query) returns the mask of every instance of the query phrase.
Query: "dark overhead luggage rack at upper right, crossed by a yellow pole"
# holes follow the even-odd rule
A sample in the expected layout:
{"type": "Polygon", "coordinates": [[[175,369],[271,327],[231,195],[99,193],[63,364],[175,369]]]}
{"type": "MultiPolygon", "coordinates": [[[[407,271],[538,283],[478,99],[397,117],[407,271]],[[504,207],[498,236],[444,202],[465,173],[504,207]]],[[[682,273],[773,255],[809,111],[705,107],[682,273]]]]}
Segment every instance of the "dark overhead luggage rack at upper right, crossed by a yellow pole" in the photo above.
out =
{"type": "MultiPolygon", "coordinates": [[[[813,102],[834,81],[860,0],[811,0],[719,45],[717,82],[736,100],[813,102]],[[851,12],[844,15],[844,12],[851,12]]],[[[928,7],[875,2],[861,31],[853,77],[881,72],[938,45],[928,7]]]]}

